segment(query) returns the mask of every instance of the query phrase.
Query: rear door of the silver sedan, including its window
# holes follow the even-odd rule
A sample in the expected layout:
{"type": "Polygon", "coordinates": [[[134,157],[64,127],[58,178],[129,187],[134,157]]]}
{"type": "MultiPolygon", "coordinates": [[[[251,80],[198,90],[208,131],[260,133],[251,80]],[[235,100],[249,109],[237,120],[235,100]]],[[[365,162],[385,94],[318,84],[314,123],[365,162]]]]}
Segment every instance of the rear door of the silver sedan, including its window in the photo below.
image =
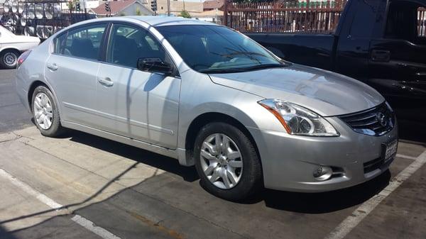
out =
{"type": "Polygon", "coordinates": [[[61,120],[96,126],[96,79],[107,23],[68,30],[53,40],[45,77],[60,102],[61,120]]]}

